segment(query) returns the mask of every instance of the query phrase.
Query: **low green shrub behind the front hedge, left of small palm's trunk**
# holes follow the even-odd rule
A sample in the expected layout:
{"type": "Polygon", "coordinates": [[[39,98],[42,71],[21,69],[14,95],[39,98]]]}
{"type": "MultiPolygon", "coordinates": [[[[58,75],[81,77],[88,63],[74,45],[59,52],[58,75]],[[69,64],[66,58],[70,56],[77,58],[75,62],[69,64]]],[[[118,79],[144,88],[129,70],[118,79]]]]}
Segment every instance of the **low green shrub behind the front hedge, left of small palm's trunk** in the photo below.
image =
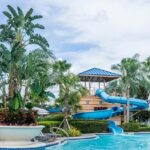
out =
{"type": "Polygon", "coordinates": [[[39,117],[38,121],[63,121],[63,114],[51,114],[45,117],[39,117]]]}

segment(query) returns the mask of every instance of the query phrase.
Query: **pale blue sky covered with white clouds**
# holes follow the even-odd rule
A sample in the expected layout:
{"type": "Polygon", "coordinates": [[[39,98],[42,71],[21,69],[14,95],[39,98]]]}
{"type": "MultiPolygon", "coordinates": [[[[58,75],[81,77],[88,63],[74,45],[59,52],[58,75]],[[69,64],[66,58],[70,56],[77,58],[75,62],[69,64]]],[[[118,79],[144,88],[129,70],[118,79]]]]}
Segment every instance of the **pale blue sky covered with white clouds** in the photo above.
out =
{"type": "Polygon", "coordinates": [[[8,4],[43,15],[42,35],[74,73],[110,70],[135,53],[150,56],[149,0],[0,0],[0,24],[8,4]]]}

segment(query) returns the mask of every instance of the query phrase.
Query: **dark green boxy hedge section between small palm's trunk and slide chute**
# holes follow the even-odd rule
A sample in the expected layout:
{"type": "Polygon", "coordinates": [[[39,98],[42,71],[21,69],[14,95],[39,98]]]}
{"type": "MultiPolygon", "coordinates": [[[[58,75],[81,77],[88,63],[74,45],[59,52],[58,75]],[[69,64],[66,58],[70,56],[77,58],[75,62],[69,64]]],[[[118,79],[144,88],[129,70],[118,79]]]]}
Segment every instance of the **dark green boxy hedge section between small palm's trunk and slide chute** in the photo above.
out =
{"type": "Polygon", "coordinates": [[[108,131],[107,121],[98,120],[70,120],[70,125],[81,133],[100,133],[108,131]]]}

